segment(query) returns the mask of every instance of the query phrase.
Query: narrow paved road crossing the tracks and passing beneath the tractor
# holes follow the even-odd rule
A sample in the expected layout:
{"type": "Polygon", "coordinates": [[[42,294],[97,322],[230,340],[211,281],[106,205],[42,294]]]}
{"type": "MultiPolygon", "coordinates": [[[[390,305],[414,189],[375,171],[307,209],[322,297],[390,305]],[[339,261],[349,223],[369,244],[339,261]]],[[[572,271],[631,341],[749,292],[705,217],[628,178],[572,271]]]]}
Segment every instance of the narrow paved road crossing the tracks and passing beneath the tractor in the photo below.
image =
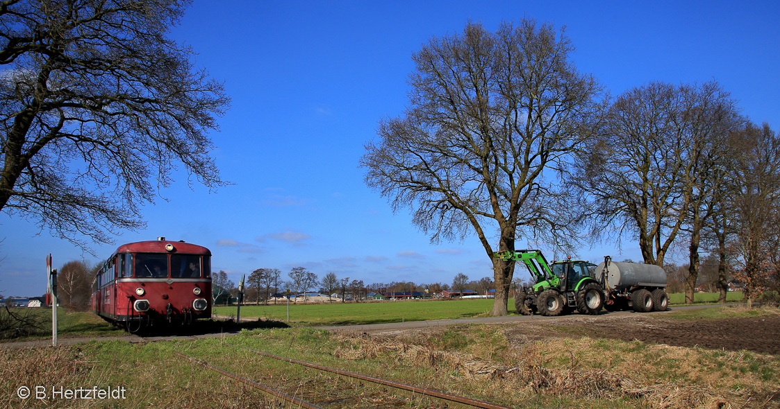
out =
{"type": "MultiPolygon", "coordinates": [[[[726,304],[726,305],[739,305],[739,304],[726,304]]],[[[665,312],[650,312],[649,314],[656,316],[656,315],[664,315],[668,314],[670,312],[675,311],[685,311],[689,309],[708,309],[708,308],[714,308],[714,307],[722,307],[723,304],[708,304],[708,305],[685,305],[685,306],[675,306],[669,308],[665,312]]],[[[637,314],[638,312],[633,311],[621,311],[621,312],[605,312],[602,311],[601,315],[615,315],[615,316],[622,316],[622,315],[629,315],[629,314],[637,314]]],[[[570,316],[564,316],[564,317],[572,317],[573,319],[576,319],[576,317],[579,316],[578,314],[572,314],[570,316]]],[[[227,317],[220,317],[215,316],[218,319],[227,319],[227,317]]],[[[555,318],[564,318],[564,317],[555,317],[555,318]]],[[[360,332],[378,332],[378,331],[393,331],[393,330],[412,330],[417,328],[429,328],[432,326],[446,326],[446,325],[452,325],[452,324],[467,324],[467,323],[522,323],[523,321],[530,321],[530,320],[544,320],[544,319],[550,319],[551,317],[544,317],[544,316],[503,316],[503,317],[482,317],[482,318],[461,318],[461,319],[435,319],[431,321],[410,321],[406,323],[383,323],[383,324],[362,324],[362,325],[350,325],[350,326],[314,326],[314,328],[318,328],[321,330],[348,330],[348,331],[360,331],[360,332]]],[[[241,319],[241,321],[256,321],[257,318],[244,318],[241,319]]],[[[231,335],[236,335],[239,333],[238,330],[236,331],[230,331],[230,332],[221,332],[221,333],[204,333],[204,334],[198,334],[198,335],[185,335],[185,336],[165,336],[165,337],[138,337],[137,335],[133,334],[127,334],[123,336],[118,337],[97,337],[97,338],[58,338],[57,344],[58,345],[73,345],[73,344],[80,344],[82,342],[89,342],[90,340],[125,340],[127,342],[154,342],[158,340],[199,340],[202,338],[218,338],[218,337],[228,337],[231,335]]],[[[0,347],[44,347],[44,346],[51,346],[51,339],[47,340],[31,340],[31,341],[20,341],[20,342],[2,342],[0,343],[0,347]]]]}

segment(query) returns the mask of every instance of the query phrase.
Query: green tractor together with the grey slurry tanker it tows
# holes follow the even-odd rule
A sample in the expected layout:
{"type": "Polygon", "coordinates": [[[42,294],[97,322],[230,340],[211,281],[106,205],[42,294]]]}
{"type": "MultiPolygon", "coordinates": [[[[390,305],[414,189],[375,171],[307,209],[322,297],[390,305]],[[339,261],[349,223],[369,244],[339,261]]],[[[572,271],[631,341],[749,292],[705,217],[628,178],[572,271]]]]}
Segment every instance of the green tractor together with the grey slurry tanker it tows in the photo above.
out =
{"type": "Polygon", "coordinates": [[[515,309],[524,316],[535,312],[558,316],[574,309],[597,315],[602,308],[665,311],[668,305],[666,273],[659,266],[613,262],[610,256],[598,266],[571,258],[548,263],[539,250],[496,252],[494,256],[522,261],[536,280],[515,296],[515,309]]]}

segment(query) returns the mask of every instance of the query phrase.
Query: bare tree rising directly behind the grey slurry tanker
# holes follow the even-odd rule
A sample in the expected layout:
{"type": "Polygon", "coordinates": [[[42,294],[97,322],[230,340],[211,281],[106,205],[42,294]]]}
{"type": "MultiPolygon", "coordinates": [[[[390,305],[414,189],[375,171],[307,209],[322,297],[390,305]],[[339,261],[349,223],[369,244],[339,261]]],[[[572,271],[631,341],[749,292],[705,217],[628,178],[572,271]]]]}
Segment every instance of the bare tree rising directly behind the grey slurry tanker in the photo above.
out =
{"type": "Polygon", "coordinates": [[[649,83],[622,93],[602,123],[601,136],[587,141],[574,163],[569,186],[590,197],[592,235],[638,238],[644,263],[664,265],[687,207],[683,181],[682,105],[676,86],[649,83]]]}

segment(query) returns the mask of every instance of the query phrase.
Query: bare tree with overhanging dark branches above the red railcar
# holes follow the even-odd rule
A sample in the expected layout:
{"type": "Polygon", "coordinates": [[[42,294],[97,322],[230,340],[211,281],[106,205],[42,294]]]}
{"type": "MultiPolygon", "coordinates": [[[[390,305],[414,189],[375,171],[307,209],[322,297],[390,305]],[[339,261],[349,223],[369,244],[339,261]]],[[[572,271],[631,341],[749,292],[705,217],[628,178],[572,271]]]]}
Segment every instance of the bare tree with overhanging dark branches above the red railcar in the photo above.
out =
{"type": "Polygon", "coordinates": [[[222,84],[166,37],[188,2],[0,2],[0,210],[84,247],[142,227],[173,182],[222,185],[222,84]]]}

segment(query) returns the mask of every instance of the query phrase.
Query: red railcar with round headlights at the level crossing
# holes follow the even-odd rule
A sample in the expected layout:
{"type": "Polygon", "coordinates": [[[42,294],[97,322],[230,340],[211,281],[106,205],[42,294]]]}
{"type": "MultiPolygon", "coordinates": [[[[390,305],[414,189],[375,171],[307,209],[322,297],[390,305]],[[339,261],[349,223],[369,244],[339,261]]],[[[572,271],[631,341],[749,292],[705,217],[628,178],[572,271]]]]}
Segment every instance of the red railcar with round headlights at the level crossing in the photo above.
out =
{"type": "Polygon", "coordinates": [[[211,251],[186,242],[119,246],[92,282],[92,310],[131,332],[211,317],[211,251]]]}

